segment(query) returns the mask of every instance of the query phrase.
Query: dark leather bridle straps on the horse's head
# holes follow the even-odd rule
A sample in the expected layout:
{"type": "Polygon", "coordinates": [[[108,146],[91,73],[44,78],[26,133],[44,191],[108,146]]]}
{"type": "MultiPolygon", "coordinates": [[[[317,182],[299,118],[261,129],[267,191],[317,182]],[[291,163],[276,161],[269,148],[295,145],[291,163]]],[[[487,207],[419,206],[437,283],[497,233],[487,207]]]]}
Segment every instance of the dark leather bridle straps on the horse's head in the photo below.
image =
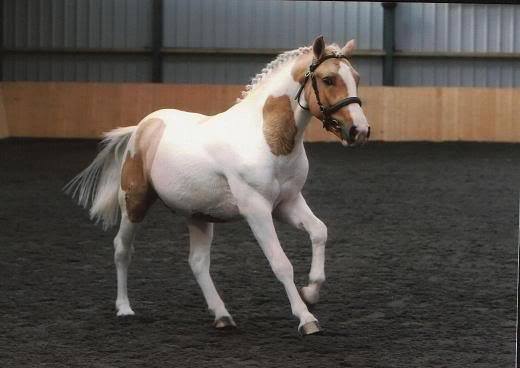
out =
{"type": "Polygon", "coordinates": [[[305,85],[307,84],[307,81],[310,78],[311,79],[311,83],[312,83],[312,89],[314,90],[314,94],[316,95],[316,101],[318,102],[318,106],[320,107],[320,111],[321,111],[321,114],[322,114],[321,121],[323,123],[323,127],[325,129],[327,129],[328,131],[331,131],[331,132],[332,131],[340,131],[341,128],[342,128],[341,123],[339,121],[337,121],[336,119],[334,119],[332,117],[332,114],[334,114],[336,111],[338,111],[342,107],[348,106],[348,105],[353,104],[353,103],[357,103],[357,104],[359,104],[359,106],[361,106],[361,100],[359,99],[359,97],[347,97],[347,98],[344,98],[341,101],[338,101],[337,103],[335,103],[332,106],[324,106],[321,103],[321,100],[320,100],[320,91],[318,90],[318,82],[316,81],[316,75],[314,74],[314,71],[325,60],[328,60],[328,59],[346,59],[346,58],[347,57],[345,55],[342,55],[342,54],[339,54],[339,53],[334,53],[334,54],[325,55],[321,59],[316,59],[316,58],[313,59],[312,64],[309,66],[309,70],[307,71],[307,73],[305,73],[305,79],[304,79],[300,89],[298,90],[298,93],[296,93],[296,96],[294,97],[294,99],[296,101],[298,101],[298,105],[300,105],[300,107],[302,109],[309,110],[308,106],[307,107],[306,106],[302,106],[302,104],[300,103],[300,96],[301,96],[301,94],[303,92],[303,89],[305,88],[305,85]]]}

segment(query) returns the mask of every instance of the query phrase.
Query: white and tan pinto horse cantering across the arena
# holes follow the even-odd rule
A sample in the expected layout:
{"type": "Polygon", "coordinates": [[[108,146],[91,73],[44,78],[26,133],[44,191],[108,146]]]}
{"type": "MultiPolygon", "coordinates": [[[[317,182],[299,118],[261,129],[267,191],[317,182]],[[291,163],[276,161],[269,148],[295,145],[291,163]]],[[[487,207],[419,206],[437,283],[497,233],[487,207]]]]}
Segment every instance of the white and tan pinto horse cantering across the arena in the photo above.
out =
{"type": "Polygon", "coordinates": [[[189,265],[214,327],[236,327],[209,273],[214,224],[244,218],[285,288],[299,333],[322,331],[308,305],[318,302],[325,281],[327,227],[301,193],[309,168],[303,137],[314,116],[346,146],[368,140],[370,126],[357,95],[359,74],[349,61],[354,48],[355,40],[339,47],[326,45],[320,36],[267,64],[220,114],[162,109],[136,126],[105,133],[96,158],[65,190],[90,206],[91,219],[105,230],[120,217],[114,238],[117,316],[134,314],[127,294],[133,241],[160,199],[186,219],[189,265]],[[299,290],[274,219],[310,237],[309,282],[299,290]]]}

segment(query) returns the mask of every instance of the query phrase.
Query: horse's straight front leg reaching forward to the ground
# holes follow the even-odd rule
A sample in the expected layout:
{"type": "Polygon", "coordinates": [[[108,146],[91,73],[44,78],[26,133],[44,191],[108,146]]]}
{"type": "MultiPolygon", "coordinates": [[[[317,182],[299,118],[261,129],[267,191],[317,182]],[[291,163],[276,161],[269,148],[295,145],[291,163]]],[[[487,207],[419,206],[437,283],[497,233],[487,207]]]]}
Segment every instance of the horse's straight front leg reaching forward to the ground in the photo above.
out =
{"type": "Polygon", "coordinates": [[[283,284],[293,315],[300,320],[298,331],[302,335],[319,332],[318,320],[309,312],[294,284],[293,267],[276,235],[270,203],[247,185],[235,186],[234,189],[241,214],[251,227],[273,273],[283,284]]]}

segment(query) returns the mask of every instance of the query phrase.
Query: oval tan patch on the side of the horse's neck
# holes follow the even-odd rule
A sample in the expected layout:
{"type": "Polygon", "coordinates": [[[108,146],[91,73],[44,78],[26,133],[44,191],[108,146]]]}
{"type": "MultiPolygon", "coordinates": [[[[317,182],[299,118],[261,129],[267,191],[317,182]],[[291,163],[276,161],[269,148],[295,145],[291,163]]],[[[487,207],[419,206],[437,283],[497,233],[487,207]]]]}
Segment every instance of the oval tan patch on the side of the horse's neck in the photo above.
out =
{"type": "Polygon", "coordinates": [[[295,145],[297,129],[289,96],[269,96],[262,113],[264,137],[273,155],[291,153],[295,145]]]}

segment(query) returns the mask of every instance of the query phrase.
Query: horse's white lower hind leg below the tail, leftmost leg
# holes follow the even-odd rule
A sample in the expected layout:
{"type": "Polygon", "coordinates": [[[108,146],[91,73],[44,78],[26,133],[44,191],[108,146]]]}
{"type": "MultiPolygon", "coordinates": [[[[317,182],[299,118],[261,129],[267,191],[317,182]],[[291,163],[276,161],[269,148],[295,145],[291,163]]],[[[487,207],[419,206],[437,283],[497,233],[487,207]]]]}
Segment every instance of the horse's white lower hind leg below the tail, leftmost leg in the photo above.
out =
{"type": "Polygon", "coordinates": [[[130,307],[127,292],[128,266],[134,251],[134,238],[137,224],[132,223],[126,213],[121,216],[121,225],[114,238],[114,263],[117,271],[117,299],[116,310],[118,316],[133,315],[134,311],[130,307]]]}

